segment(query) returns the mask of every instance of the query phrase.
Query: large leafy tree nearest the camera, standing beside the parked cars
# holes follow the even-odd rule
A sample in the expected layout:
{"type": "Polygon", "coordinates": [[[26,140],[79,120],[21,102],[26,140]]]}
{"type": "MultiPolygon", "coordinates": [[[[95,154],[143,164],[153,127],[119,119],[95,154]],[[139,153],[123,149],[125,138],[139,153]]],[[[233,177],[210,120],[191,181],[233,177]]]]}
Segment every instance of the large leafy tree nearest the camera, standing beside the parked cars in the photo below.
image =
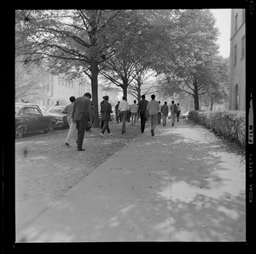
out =
{"type": "Polygon", "coordinates": [[[16,55],[48,58],[52,73],[91,80],[94,127],[99,127],[99,65],[114,54],[109,27],[120,10],[16,10],[16,55]]]}

